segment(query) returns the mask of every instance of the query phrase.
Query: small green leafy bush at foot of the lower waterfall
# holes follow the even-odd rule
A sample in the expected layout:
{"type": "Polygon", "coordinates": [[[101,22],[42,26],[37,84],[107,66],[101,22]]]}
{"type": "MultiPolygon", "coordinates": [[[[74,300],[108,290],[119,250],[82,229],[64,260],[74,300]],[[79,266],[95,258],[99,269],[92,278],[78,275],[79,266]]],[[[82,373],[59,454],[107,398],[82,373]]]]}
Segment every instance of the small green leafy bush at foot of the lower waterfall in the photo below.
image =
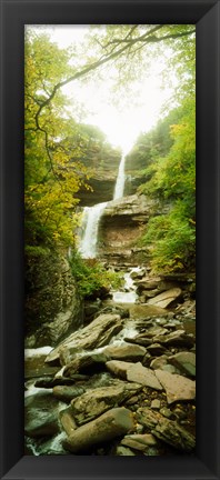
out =
{"type": "Polygon", "coordinates": [[[121,284],[120,274],[107,270],[96,259],[82,259],[76,250],[72,251],[69,262],[82,297],[98,298],[108,293],[110,288],[118,288],[121,284]]]}

